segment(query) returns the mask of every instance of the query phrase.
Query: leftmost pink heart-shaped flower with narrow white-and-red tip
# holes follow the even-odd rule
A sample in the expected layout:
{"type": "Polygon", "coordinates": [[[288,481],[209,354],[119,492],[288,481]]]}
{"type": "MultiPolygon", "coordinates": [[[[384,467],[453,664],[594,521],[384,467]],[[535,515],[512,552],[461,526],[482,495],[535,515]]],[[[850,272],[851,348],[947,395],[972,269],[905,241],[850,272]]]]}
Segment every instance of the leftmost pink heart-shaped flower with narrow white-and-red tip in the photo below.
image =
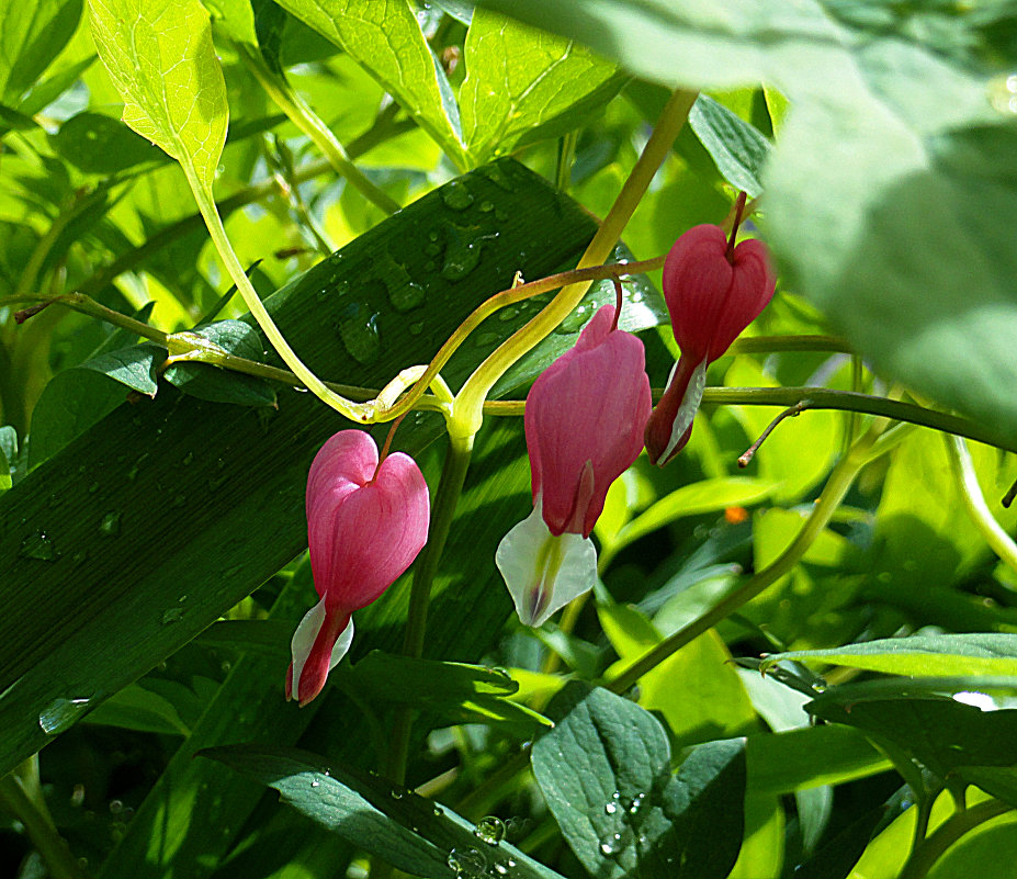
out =
{"type": "Polygon", "coordinates": [[[293,633],[286,698],[307,705],[353,640],[354,610],[376,600],[427,542],[427,483],[407,454],[387,455],[362,430],[341,430],[307,475],[307,543],[321,596],[293,633]]]}

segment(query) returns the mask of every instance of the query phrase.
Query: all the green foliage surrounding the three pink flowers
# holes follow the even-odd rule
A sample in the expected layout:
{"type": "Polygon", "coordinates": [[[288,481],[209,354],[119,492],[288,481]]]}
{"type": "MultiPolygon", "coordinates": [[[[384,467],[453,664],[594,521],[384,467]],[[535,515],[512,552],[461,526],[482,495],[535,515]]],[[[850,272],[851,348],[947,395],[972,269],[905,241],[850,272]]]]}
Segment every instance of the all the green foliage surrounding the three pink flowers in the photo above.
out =
{"type": "MultiPolygon", "coordinates": [[[[1015,23],[1005,3],[9,0],[0,872],[37,874],[34,848],[70,879],[1004,875],[1015,23]],[[307,466],[350,425],[281,372],[229,286],[244,267],[298,358],[371,399],[598,228],[595,262],[662,257],[738,190],[776,296],[711,368],[688,448],[611,487],[590,606],[521,627],[494,555],[533,500],[527,388],[610,280],[496,381],[454,505],[444,386],[399,424],[444,549],[287,703],[318,600],[307,466]],[[939,430],[978,440],[968,471],[939,430]]],[[[659,393],[686,316],[657,271],[620,294],[659,393]]],[[[451,394],[554,295],[457,340],[451,394]]]]}

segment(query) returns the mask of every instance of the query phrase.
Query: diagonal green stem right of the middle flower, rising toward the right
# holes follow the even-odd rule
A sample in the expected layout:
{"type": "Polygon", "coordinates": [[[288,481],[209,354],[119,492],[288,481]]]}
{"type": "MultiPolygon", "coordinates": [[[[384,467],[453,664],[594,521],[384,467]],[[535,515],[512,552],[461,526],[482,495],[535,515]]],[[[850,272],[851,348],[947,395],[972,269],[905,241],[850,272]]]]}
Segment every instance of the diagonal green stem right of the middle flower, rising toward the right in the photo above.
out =
{"type": "Polygon", "coordinates": [[[632,665],[625,668],[614,680],[608,684],[613,692],[624,692],[647,672],[656,668],[686,644],[710,631],[722,620],[730,617],[738,608],[750,601],[769,586],[772,586],[784,574],[790,573],[801,561],[806,550],[829,523],[830,518],[845,495],[855,482],[855,477],[862,466],[870,460],[870,453],[883,426],[873,426],[850,449],[847,457],[834,467],[826,482],[823,494],[812,509],[802,529],[794,540],[769,566],[749,577],[735,591],[703,613],[688,626],[664,639],[659,644],[644,653],[632,665]]]}

